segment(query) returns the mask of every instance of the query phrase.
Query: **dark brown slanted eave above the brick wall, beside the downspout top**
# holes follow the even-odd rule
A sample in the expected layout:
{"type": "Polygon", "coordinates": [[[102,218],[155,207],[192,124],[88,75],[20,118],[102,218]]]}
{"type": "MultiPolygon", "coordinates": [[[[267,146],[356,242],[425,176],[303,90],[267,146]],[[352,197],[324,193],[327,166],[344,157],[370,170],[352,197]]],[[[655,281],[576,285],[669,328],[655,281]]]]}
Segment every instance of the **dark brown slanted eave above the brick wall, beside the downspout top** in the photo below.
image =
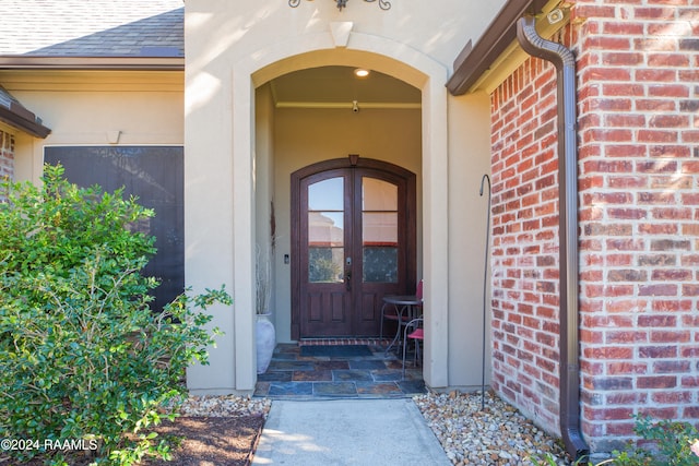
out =
{"type": "Polygon", "coordinates": [[[547,0],[508,0],[475,46],[466,44],[457,60],[454,73],[447,82],[452,95],[463,95],[488,70],[490,64],[517,39],[517,20],[524,13],[538,13],[547,0]]]}

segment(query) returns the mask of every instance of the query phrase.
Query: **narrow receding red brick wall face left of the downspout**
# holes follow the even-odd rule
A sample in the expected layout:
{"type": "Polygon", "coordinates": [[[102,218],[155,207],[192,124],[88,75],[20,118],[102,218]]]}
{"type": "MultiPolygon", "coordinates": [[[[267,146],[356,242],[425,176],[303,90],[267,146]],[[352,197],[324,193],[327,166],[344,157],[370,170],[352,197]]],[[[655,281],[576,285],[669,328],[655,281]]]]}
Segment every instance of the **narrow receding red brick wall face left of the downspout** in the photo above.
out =
{"type": "Polygon", "coordinates": [[[530,59],[491,96],[493,386],[558,432],[556,71],[530,59]]]}

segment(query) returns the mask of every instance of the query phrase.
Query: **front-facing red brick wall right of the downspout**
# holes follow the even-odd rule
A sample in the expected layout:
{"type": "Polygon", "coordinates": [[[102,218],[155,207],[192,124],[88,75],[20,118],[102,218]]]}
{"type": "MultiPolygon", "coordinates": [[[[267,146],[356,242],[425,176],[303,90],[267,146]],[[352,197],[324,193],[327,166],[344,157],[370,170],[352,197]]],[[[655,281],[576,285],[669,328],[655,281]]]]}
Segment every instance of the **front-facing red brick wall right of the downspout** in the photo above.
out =
{"type": "Polygon", "coordinates": [[[578,1],[584,431],[699,421],[699,4],[578,1]]]}

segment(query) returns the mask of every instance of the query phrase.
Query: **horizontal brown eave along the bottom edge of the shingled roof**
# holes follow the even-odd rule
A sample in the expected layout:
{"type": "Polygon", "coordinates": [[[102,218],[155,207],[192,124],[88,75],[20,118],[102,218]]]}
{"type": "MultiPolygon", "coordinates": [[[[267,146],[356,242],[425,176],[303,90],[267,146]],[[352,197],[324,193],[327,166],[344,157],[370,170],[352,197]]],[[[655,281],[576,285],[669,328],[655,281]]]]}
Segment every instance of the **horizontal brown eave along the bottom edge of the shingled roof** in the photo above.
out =
{"type": "Polygon", "coordinates": [[[0,56],[0,70],[183,71],[183,57],[0,56]]]}

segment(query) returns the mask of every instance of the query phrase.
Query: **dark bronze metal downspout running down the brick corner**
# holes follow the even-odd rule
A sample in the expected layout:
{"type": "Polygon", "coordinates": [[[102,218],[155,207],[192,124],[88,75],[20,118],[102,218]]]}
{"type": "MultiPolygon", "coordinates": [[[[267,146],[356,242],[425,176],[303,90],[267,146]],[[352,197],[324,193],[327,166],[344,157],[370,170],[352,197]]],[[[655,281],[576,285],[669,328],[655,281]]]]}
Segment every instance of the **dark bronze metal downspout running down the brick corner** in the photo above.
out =
{"type": "Polygon", "coordinates": [[[558,201],[560,267],[560,431],[574,459],[589,454],[580,431],[580,349],[578,335],[578,144],[576,58],[565,46],[536,33],[535,20],[517,22],[517,39],[531,56],[552,62],[558,89],[558,201]]]}

